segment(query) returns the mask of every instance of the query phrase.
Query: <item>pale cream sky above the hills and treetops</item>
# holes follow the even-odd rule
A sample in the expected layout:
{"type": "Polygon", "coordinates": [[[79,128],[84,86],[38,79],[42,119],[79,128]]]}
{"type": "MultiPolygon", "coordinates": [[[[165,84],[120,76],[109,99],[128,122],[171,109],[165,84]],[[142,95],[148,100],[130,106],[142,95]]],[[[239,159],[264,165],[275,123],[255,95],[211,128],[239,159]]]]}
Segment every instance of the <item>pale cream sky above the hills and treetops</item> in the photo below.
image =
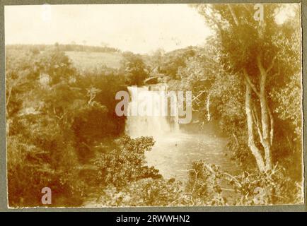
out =
{"type": "Polygon", "coordinates": [[[6,44],[104,42],[144,54],[204,44],[210,34],[187,4],[5,6],[6,44]]]}

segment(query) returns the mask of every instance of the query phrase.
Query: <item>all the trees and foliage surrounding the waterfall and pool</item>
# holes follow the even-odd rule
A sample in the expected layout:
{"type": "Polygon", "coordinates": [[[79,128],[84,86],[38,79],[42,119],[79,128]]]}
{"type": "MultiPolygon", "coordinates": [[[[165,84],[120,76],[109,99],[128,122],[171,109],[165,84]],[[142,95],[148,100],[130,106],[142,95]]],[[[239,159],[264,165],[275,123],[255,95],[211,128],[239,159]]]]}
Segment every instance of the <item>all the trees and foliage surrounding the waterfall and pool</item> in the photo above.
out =
{"type": "Polygon", "coordinates": [[[300,203],[302,114],[300,24],[265,25],[253,5],[195,5],[214,36],[204,47],[151,56],[122,54],[119,69],[77,71],[63,51],[115,52],[108,47],[6,47],[6,132],[10,206],[221,206],[300,203]],[[240,13],[240,17],[238,17],[240,13]],[[220,20],[216,22],[214,18],[220,20]],[[102,49],[101,49],[102,48],[102,49]],[[163,179],[145,153],[151,137],[124,136],[115,93],[164,75],[173,90],[191,90],[200,131],[218,121],[238,175],[204,160],[187,180],[163,179]]]}

